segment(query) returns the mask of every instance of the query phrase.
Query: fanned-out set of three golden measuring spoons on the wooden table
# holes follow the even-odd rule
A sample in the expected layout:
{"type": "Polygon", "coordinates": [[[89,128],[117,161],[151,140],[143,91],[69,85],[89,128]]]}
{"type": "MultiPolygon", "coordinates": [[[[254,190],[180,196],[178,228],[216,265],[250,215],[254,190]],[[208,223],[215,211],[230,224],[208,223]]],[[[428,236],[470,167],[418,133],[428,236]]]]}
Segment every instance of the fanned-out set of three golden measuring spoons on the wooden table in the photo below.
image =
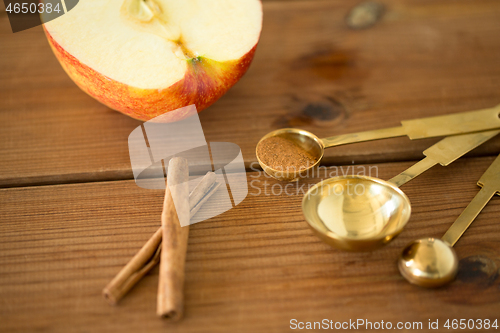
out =
{"type": "MultiPolygon", "coordinates": [[[[371,251],[394,239],[408,223],[411,204],[400,186],[436,164],[447,166],[500,133],[500,105],[478,111],[402,121],[402,126],[319,139],[299,129],[281,129],[257,144],[263,170],[278,180],[295,181],[317,166],[324,149],[349,143],[407,135],[410,139],[446,136],[423,153],[426,156],[388,181],[368,176],[339,176],[319,182],[302,200],[302,211],[314,233],[325,243],[348,251],[371,251]],[[279,170],[262,162],[259,145],[270,137],[290,140],[315,158],[300,170],[279,170]],[[350,191],[347,189],[351,189],[350,191]]],[[[482,190],[441,240],[425,238],[409,244],[398,267],[411,283],[436,287],[452,281],[458,258],[452,246],[486,203],[500,193],[500,156],[481,177],[482,190]]]]}

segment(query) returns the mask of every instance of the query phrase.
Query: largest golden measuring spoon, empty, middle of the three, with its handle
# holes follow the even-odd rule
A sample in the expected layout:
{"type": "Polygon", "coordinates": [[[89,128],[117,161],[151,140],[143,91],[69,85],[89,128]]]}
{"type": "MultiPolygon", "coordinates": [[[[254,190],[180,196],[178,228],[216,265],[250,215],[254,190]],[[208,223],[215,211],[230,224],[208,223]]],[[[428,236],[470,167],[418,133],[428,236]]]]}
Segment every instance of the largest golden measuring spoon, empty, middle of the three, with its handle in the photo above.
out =
{"type": "Polygon", "coordinates": [[[382,247],[410,219],[410,200],[399,186],[438,163],[449,165],[498,133],[500,130],[446,137],[425,150],[423,160],[389,181],[355,175],[324,180],[302,200],[306,221],[324,242],[339,249],[382,247]]]}

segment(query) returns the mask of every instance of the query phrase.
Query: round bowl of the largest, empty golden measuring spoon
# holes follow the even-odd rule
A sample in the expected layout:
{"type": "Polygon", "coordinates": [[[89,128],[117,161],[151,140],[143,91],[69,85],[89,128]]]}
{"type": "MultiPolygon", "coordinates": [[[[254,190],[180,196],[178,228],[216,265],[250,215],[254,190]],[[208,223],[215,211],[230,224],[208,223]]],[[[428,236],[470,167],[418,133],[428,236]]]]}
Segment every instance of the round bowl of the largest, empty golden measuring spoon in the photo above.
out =
{"type": "Polygon", "coordinates": [[[325,243],[341,250],[371,251],[403,230],[411,205],[392,183],[368,176],[341,176],[313,186],[302,200],[302,211],[325,243]]]}

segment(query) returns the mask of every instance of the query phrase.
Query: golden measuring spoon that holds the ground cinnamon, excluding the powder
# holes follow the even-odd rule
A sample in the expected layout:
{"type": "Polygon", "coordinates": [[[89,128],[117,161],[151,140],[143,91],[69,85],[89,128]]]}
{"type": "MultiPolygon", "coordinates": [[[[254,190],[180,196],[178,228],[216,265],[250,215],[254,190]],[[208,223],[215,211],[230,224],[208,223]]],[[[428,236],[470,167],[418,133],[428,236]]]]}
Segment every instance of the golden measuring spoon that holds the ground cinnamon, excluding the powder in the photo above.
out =
{"type": "Polygon", "coordinates": [[[284,181],[296,181],[308,170],[319,164],[326,148],[372,140],[380,140],[407,135],[411,140],[449,136],[456,134],[480,132],[500,128],[500,105],[494,108],[456,113],[445,116],[405,120],[401,126],[378,129],[373,131],[343,134],[320,139],[316,135],[296,129],[284,128],[266,134],[257,143],[256,155],[262,169],[270,176],[284,181]],[[259,156],[259,146],[270,137],[281,137],[295,143],[309,153],[315,163],[297,170],[279,170],[263,162],[264,156],[259,156]]]}

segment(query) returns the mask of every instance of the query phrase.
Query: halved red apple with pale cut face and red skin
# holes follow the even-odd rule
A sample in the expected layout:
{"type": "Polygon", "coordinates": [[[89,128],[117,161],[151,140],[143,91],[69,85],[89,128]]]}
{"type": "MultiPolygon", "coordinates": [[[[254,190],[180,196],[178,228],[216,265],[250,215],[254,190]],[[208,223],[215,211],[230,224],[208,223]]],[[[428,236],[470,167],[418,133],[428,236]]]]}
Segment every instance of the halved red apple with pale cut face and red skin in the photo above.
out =
{"type": "Polygon", "coordinates": [[[213,104],[247,71],[261,27],[259,0],[85,0],[44,24],[83,91],[144,121],[213,104]]]}

